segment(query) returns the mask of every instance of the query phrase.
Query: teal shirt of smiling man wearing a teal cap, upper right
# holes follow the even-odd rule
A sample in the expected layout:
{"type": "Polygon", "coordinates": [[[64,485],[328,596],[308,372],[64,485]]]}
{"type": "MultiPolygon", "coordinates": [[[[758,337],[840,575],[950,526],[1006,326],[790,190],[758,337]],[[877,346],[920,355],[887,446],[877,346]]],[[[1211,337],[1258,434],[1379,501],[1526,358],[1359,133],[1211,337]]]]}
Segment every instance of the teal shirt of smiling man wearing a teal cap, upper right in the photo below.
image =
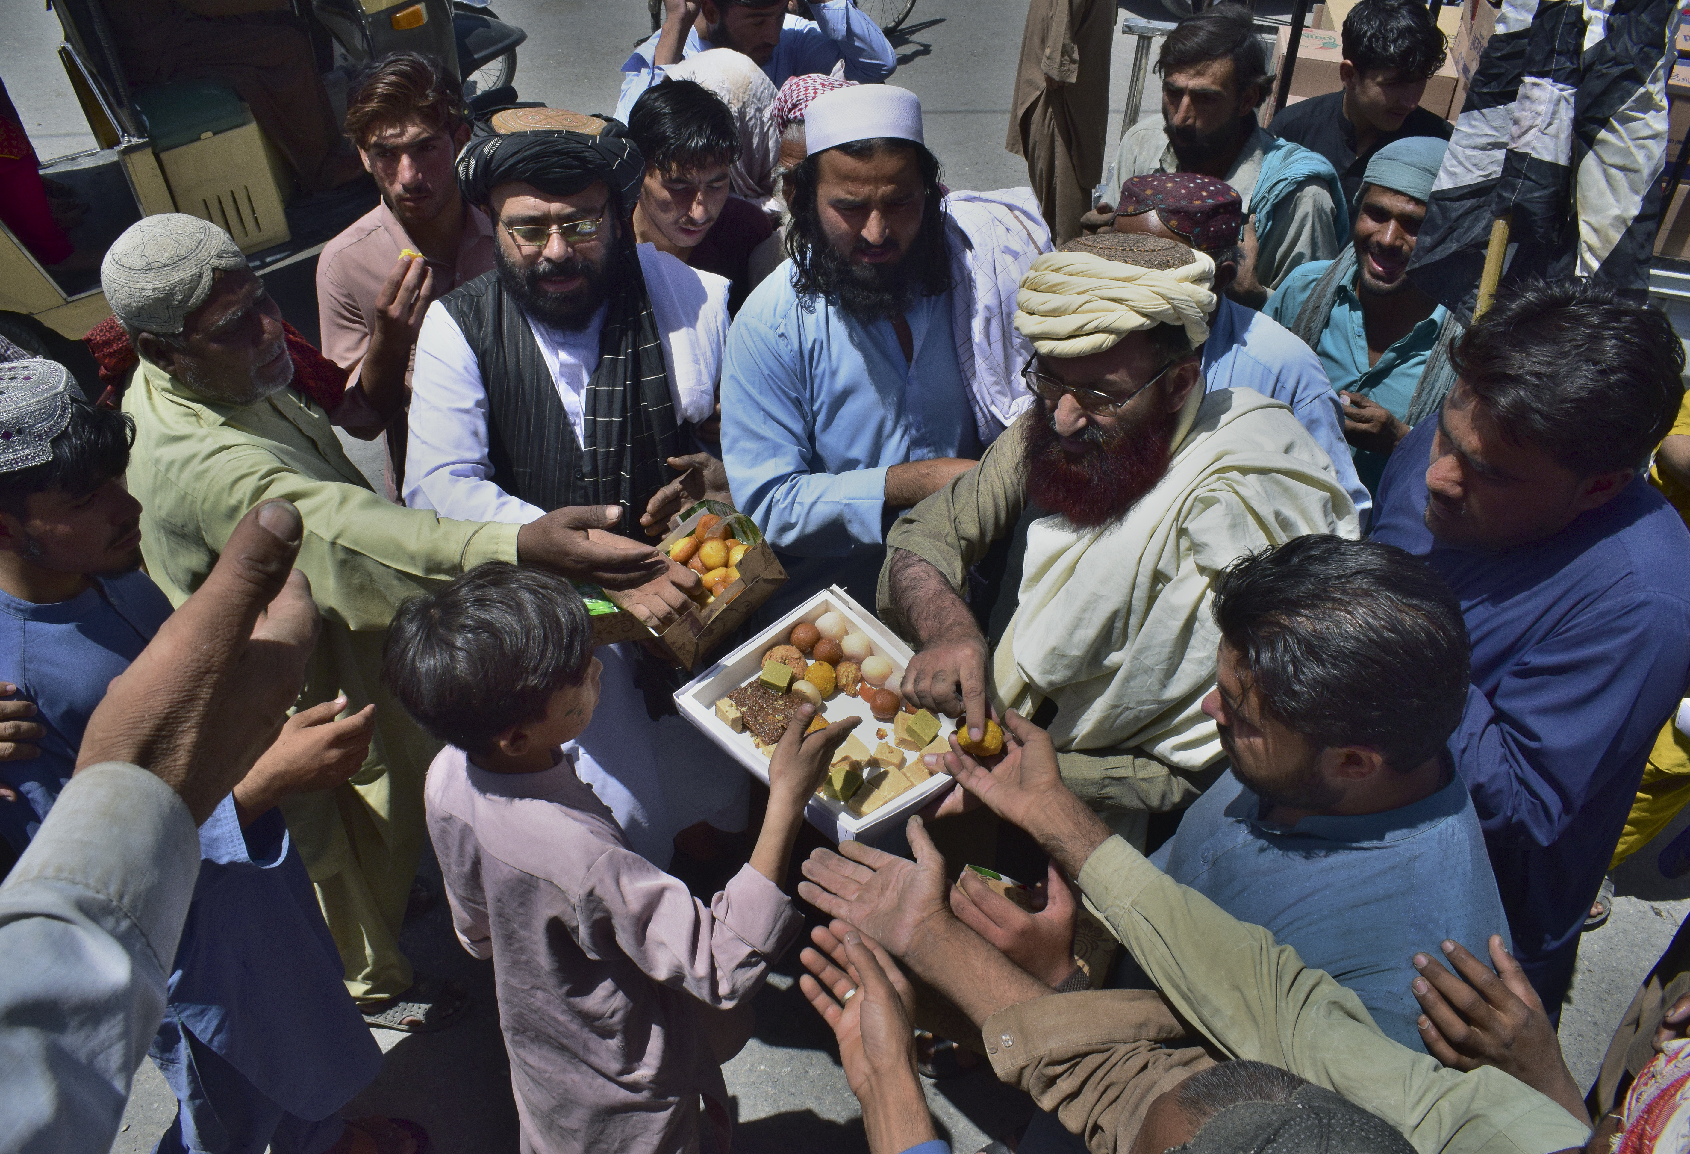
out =
{"type": "MultiPolygon", "coordinates": [[[[1286,328],[1293,328],[1296,314],[1303,311],[1303,302],[1315,291],[1315,282],[1330,265],[1330,260],[1310,260],[1293,269],[1279,289],[1268,297],[1262,313],[1286,328]]],[[[1325,365],[1327,378],[1332,380],[1335,392],[1360,394],[1389,409],[1398,421],[1406,421],[1408,402],[1415,395],[1415,385],[1420,384],[1420,373],[1426,368],[1431,348],[1438,343],[1438,329],[1443,326],[1445,316],[1448,311],[1440,304],[1431,311],[1431,316],[1411,328],[1408,336],[1384,350],[1377,365],[1369,367],[1362,302],[1355,296],[1355,286],[1344,284],[1338,286],[1338,294],[1332,301],[1332,316],[1327,318],[1327,326],[1320,331],[1315,353],[1320,355],[1320,363],[1325,365]]],[[[1377,495],[1379,476],[1384,473],[1384,463],[1391,458],[1355,448],[1350,449],[1350,456],[1355,460],[1355,475],[1360,476],[1362,485],[1367,487],[1369,493],[1377,495]]]]}

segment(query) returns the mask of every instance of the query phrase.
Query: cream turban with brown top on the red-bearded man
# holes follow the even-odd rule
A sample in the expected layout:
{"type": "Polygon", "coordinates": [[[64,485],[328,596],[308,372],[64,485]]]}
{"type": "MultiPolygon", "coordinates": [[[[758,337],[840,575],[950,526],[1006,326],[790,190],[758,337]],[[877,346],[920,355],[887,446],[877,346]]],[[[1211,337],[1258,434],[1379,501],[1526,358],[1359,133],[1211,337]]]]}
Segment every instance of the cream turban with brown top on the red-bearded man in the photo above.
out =
{"type": "Polygon", "coordinates": [[[1016,329],[1041,357],[1087,357],[1127,333],[1181,324],[1191,345],[1208,338],[1215,262],[1168,240],[1098,233],[1033,262],[1016,296],[1016,329]]]}

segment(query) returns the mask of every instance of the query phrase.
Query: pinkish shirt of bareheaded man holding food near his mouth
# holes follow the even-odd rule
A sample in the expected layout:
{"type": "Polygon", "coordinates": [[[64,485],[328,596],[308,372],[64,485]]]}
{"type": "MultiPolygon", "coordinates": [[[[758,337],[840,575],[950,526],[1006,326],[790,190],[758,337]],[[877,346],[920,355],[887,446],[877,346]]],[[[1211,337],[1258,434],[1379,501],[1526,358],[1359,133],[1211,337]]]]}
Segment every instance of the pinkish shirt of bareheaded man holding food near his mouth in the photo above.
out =
{"type": "MultiPolygon", "coordinates": [[[[444,269],[434,265],[434,297],[443,297],[460,284],[490,272],[493,243],[493,223],[487,213],[472,208],[463,238],[458,242],[451,284],[443,284],[444,269]]],[[[352,372],[348,385],[357,384],[358,365],[370,346],[370,326],[365,318],[375,313],[382,284],[406,248],[416,245],[387,208],[387,201],[382,201],[323,245],[318,257],[318,323],[323,329],[323,355],[352,372]]],[[[407,368],[406,384],[409,382],[407,368]]]]}

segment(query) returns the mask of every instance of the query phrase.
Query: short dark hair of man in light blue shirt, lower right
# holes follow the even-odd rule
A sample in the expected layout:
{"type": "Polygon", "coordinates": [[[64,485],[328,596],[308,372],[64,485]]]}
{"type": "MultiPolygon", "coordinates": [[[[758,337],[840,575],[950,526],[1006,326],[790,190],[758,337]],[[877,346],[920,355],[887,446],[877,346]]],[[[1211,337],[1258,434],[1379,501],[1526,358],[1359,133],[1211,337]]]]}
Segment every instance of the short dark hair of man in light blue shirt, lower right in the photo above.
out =
{"type": "Polygon", "coordinates": [[[1246,554],[1213,613],[1262,710],[1315,748],[1367,745],[1408,772],[1467,708],[1460,601],[1396,546],[1317,534],[1246,554]]]}

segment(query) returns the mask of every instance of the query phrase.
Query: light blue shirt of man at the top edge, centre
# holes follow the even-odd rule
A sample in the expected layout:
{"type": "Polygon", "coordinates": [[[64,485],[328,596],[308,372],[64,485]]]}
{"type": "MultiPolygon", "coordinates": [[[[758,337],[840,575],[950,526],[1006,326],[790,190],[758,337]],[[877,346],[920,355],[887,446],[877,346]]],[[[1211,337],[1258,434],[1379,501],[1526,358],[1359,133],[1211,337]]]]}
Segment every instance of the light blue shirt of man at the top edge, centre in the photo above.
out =
{"type": "MultiPolygon", "coordinates": [[[[776,88],[793,76],[831,73],[840,61],[845,61],[845,79],[853,79],[859,84],[877,84],[897,68],[892,42],[886,39],[880,25],[850,0],[811,3],[810,12],[816,17],[815,20],[786,17],[781,39],[774,46],[774,56],[762,66],[776,88]]],[[[622,123],[629,122],[634,101],[652,84],[662,83],[666,69],[652,63],[661,37],[661,30],[652,32],[651,39],[634,49],[634,54],[622,64],[625,76],[622,78],[622,95],[617,98],[617,120],[622,123]]],[[[681,59],[691,59],[711,47],[715,46],[698,35],[696,27],[688,29],[681,59]]]]}

